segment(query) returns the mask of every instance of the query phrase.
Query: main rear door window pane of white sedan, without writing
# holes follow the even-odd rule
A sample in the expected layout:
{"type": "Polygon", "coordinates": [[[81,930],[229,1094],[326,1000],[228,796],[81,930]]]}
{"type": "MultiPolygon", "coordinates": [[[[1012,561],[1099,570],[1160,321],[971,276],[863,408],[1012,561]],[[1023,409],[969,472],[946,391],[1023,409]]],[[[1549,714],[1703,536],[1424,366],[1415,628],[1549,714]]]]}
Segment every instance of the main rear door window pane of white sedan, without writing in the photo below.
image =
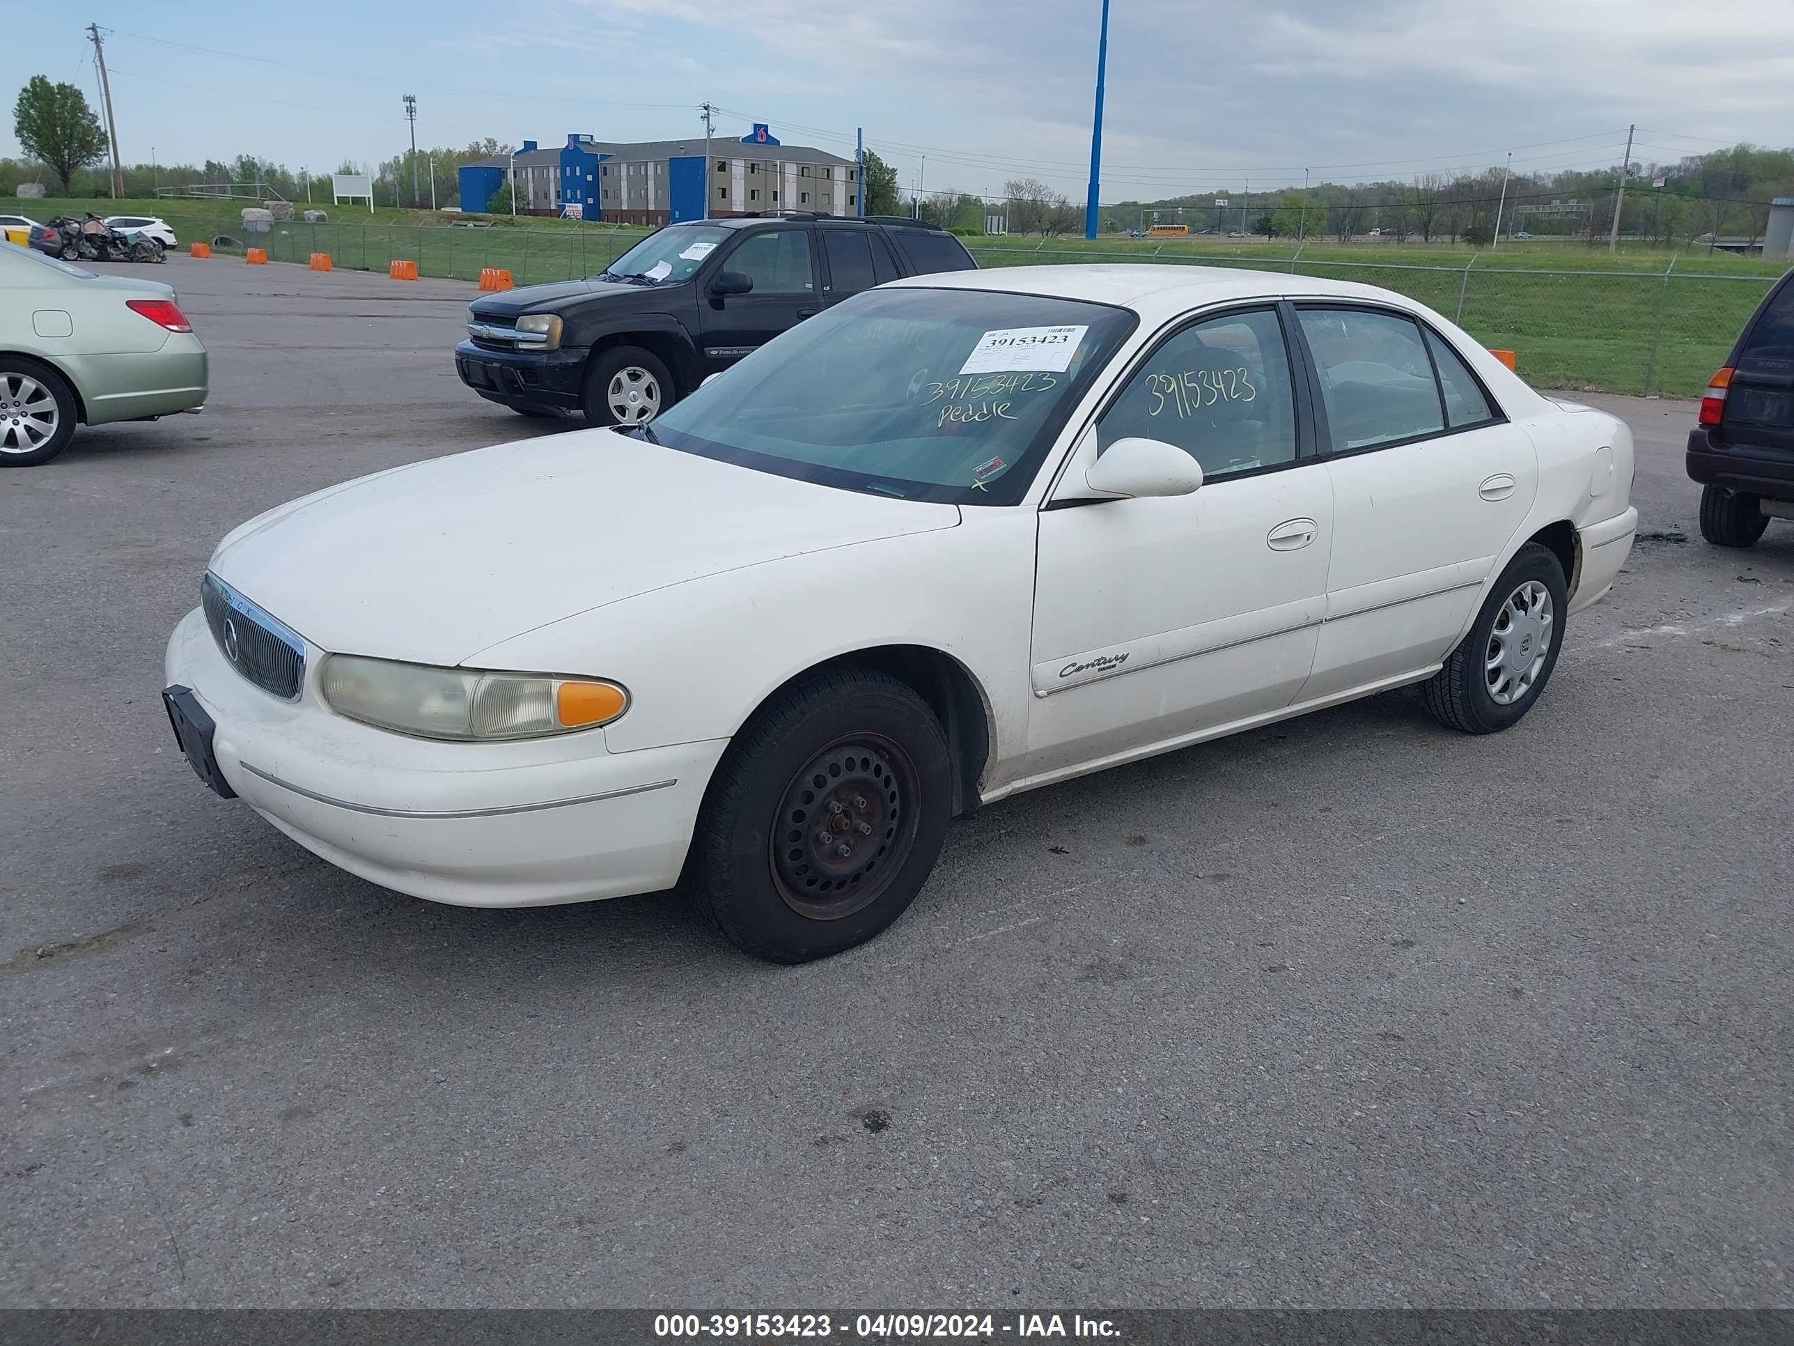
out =
{"type": "Polygon", "coordinates": [[[1365,309],[1299,314],[1320,375],[1333,452],[1444,431],[1433,363],[1412,318],[1365,309]]]}

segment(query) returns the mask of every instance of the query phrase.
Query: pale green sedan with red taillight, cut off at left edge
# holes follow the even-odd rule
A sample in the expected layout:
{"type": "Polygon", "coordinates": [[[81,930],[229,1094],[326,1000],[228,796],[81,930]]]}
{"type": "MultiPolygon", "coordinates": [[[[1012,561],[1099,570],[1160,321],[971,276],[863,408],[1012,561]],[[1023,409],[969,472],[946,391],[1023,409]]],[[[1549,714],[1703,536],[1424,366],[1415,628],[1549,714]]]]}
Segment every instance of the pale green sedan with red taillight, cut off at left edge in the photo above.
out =
{"type": "Polygon", "coordinates": [[[0,467],[47,463],[77,424],[206,404],[206,348],[154,280],[0,244],[0,467]]]}

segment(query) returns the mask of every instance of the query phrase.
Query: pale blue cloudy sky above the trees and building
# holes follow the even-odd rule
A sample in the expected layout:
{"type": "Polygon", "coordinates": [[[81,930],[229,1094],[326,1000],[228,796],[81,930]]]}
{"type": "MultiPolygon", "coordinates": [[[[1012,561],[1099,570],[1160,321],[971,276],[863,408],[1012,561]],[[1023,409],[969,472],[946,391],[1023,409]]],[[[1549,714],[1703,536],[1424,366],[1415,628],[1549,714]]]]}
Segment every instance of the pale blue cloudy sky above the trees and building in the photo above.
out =
{"type": "MultiPolygon", "coordinates": [[[[292,169],[405,144],[718,135],[753,120],[904,188],[997,194],[1089,176],[1100,0],[237,0],[9,5],[0,93],[34,74],[97,104],[88,18],[127,160],[255,153],[292,169]],[[508,22],[495,23],[495,16],[508,22]],[[926,163],[924,163],[926,158],[926,163]]],[[[1794,4],[1728,0],[1112,0],[1103,199],[1500,163],[1674,162],[1794,144],[1794,4]]],[[[16,154],[11,117],[0,153],[16,154]]]]}

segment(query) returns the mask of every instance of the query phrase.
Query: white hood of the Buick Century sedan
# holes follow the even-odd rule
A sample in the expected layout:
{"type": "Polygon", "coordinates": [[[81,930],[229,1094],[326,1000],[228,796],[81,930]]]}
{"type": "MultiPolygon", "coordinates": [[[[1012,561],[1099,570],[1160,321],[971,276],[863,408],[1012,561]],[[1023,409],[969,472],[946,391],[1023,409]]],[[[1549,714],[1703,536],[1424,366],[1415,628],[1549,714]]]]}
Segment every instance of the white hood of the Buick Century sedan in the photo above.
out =
{"type": "Polygon", "coordinates": [[[230,533],[210,569],[325,650],[459,664],[651,589],[958,522],[574,431],[330,486],[230,533]]]}

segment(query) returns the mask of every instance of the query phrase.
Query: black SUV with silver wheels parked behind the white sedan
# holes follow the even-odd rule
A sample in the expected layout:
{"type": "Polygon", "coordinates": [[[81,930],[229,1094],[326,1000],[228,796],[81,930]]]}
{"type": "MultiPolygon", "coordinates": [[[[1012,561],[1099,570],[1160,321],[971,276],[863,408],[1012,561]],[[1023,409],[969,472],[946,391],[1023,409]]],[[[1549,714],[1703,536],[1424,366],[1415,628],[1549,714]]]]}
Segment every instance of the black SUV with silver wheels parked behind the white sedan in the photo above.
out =
{"type": "Polygon", "coordinates": [[[526,416],[640,425],[709,375],[832,303],[897,276],[971,271],[945,230],[897,217],[669,224],[603,275],[468,305],[461,382],[526,416]]]}

